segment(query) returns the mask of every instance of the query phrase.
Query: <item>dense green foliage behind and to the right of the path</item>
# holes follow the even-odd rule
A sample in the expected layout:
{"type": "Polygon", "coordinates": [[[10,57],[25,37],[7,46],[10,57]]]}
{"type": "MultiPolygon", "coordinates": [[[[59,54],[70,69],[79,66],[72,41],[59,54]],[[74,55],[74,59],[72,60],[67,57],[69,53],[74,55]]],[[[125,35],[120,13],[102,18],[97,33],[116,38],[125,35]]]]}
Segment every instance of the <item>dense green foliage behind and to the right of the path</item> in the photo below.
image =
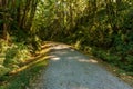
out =
{"type": "Polygon", "coordinates": [[[132,0],[44,0],[33,29],[42,40],[62,41],[133,71],[132,0]]]}

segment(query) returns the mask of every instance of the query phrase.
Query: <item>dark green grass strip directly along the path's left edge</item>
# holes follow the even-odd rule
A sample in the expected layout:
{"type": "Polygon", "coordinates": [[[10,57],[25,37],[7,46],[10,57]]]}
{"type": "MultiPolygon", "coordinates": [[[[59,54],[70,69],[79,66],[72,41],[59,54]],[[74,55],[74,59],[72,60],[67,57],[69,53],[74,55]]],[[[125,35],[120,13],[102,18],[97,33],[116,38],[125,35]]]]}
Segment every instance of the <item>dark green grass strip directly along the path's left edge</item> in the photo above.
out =
{"type": "Polygon", "coordinates": [[[19,73],[9,76],[0,89],[25,89],[47,65],[47,60],[39,61],[19,73]]]}

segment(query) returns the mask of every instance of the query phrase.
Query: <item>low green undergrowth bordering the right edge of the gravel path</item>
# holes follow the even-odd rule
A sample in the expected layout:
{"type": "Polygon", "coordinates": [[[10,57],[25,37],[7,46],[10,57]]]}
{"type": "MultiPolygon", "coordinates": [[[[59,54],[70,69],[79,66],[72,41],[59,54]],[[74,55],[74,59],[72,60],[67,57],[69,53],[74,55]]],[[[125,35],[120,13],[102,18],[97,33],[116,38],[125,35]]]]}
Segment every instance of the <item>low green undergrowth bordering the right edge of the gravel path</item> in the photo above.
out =
{"type": "Polygon", "coordinates": [[[78,50],[82,50],[85,53],[93,55],[96,58],[110,63],[111,66],[117,67],[120,73],[126,73],[133,76],[133,55],[129,53],[129,50],[115,50],[102,49],[95,46],[85,46],[76,42],[74,47],[78,50]]]}

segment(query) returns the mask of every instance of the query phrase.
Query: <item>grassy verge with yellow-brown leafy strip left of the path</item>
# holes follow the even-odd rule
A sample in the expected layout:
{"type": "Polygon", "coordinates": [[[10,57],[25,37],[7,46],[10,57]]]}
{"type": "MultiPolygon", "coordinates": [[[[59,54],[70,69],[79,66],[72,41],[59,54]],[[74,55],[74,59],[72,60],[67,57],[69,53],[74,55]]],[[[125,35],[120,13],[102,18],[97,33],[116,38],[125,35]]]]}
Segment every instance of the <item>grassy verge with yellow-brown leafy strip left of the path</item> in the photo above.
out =
{"type": "Polygon", "coordinates": [[[42,48],[34,60],[3,77],[0,89],[27,89],[48,66],[49,48],[42,48]]]}

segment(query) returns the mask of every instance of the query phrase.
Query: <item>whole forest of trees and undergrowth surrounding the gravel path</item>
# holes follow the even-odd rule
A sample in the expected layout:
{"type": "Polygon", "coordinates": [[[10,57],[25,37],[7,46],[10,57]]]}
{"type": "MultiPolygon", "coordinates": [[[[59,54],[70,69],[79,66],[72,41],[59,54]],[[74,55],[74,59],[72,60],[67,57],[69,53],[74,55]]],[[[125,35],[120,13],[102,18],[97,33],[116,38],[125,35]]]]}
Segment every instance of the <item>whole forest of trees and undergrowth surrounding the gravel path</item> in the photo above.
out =
{"type": "Polygon", "coordinates": [[[0,85],[44,41],[71,44],[133,76],[133,0],[0,0],[0,85]]]}

